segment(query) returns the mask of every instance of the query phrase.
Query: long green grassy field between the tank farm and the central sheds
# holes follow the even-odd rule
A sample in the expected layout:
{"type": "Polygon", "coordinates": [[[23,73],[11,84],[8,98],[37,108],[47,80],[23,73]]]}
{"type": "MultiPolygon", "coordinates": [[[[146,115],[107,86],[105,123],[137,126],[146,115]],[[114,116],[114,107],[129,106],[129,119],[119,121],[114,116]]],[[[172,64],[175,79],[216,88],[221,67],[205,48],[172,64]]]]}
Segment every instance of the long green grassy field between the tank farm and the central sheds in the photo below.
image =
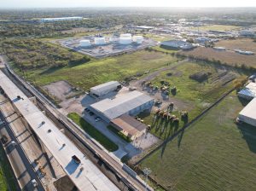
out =
{"type": "Polygon", "coordinates": [[[76,87],[89,90],[96,84],[110,80],[124,80],[137,74],[143,74],[148,70],[154,71],[175,61],[177,58],[171,55],[141,50],[132,54],[93,60],[76,67],[30,70],[26,72],[26,79],[40,86],[59,80],[67,80],[76,87]]]}

